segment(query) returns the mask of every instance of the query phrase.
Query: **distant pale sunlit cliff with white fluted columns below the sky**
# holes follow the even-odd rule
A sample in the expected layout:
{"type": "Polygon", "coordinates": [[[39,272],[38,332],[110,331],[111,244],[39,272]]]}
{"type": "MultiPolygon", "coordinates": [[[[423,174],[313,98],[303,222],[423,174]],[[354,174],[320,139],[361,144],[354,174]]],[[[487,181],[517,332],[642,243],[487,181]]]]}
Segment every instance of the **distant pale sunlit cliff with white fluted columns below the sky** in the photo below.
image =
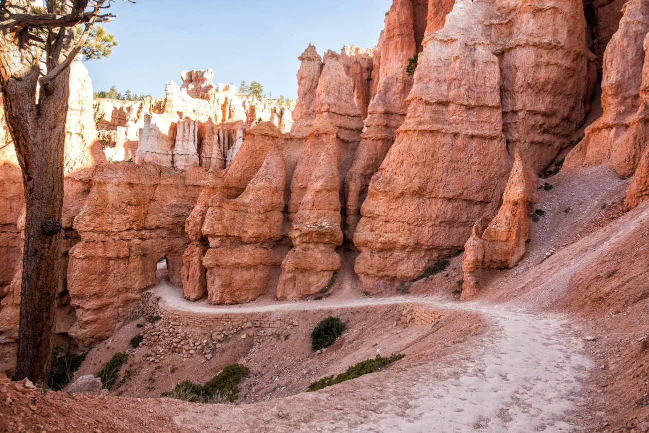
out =
{"type": "Polygon", "coordinates": [[[255,123],[293,126],[295,101],[256,99],[232,84],[214,84],[212,69],[182,71],[167,82],[165,97],[143,101],[96,99],[95,121],[110,161],[152,162],[186,169],[225,169],[255,123]]]}

